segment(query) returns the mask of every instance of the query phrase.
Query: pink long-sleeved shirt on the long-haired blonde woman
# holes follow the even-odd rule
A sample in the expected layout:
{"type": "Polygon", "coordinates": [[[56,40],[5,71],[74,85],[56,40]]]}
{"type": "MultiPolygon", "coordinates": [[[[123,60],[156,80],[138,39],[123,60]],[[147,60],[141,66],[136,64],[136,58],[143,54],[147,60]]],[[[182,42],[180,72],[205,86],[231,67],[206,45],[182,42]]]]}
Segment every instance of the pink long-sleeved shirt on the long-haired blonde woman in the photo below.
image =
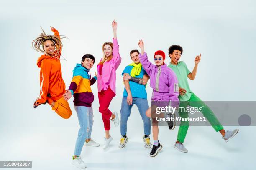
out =
{"type": "Polygon", "coordinates": [[[115,71],[117,70],[118,66],[121,64],[121,57],[119,54],[119,45],[118,45],[117,39],[114,39],[114,38],[113,38],[112,55],[113,55],[113,58],[109,61],[106,61],[103,64],[103,66],[97,65],[98,92],[101,92],[101,90],[107,90],[109,86],[110,89],[115,93],[115,79],[116,79],[115,71]]]}

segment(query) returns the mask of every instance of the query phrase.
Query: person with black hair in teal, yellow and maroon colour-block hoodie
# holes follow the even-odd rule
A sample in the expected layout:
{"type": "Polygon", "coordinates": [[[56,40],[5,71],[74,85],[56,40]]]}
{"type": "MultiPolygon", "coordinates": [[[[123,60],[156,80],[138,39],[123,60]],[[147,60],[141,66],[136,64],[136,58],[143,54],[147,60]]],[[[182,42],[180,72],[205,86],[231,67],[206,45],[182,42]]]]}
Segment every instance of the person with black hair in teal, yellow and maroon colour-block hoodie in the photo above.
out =
{"type": "Polygon", "coordinates": [[[86,54],[82,57],[81,64],[77,64],[73,70],[73,79],[69,89],[63,95],[64,100],[69,100],[72,95],[74,96],[74,108],[80,125],[72,160],[72,164],[78,168],[86,167],[80,157],[84,141],[85,146],[100,146],[99,143],[91,139],[93,125],[92,102],[94,100],[91,85],[96,82],[97,75],[95,72],[95,76],[91,78],[90,69],[94,62],[95,58],[91,54],[86,54]]]}

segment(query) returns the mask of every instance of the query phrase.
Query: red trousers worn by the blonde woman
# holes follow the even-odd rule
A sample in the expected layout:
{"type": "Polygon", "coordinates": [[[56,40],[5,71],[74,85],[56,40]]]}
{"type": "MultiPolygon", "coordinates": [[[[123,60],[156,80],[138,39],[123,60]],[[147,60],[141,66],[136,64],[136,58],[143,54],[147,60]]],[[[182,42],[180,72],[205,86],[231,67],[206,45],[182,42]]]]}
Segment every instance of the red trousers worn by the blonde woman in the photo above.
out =
{"type": "Polygon", "coordinates": [[[108,109],[109,104],[113,97],[115,97],[115,93],[108,87],[108,90],[102,90],[101,92],[98,92],[99,97],[99,111],[102,115],[102,120],[104,123],[105,130],[110,130],[110,117],[112,115],[112,112],[108,109]]]}

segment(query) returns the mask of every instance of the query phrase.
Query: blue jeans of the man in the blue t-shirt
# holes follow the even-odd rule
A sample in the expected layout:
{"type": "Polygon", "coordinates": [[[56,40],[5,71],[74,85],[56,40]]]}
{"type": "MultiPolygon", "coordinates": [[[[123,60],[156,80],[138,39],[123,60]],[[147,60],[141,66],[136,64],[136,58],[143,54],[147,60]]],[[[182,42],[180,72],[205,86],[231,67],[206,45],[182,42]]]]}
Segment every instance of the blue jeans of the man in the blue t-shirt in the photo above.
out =
{"type": "Polygon", "coordinates": [[[143,120],[144,134],[150,135],[151,122],[150,122],[150,118],[146,116],[146,110],[148,109],[148,100],[137,98],[137,97],[133,97],[133,103],[130,106],[127,104],[127,97],[123,97],[121,111],[120,111],[121,112],[121,121],[120,121],[121,135],[126,135],[127,121],[131,115],[131,108],[133,107],[134,104],[138,107],[141,118],[143,120]]]}

